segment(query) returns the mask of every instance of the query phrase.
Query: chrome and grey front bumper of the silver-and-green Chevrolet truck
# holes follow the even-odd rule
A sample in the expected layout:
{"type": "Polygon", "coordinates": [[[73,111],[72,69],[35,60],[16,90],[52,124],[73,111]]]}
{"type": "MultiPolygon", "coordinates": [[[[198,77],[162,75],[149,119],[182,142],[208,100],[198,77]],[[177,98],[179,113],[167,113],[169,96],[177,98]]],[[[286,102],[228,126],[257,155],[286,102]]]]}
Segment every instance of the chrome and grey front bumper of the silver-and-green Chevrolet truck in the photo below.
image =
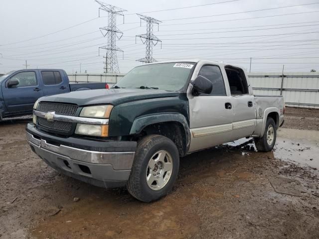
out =
{"type": "Polygon", "coordinates": [[[98,152],[51,144],[26,132],[27,141],[50,167],[99,187],[121,187],[129,179],[135,152],[98,152]]]}

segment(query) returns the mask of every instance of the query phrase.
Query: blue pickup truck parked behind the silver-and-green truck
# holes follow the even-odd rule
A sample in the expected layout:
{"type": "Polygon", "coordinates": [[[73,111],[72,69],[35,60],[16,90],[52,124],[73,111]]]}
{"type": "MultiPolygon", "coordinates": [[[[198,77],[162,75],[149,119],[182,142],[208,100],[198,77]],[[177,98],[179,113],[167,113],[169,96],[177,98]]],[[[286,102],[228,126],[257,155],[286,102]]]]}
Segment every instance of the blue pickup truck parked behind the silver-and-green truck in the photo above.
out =
{"type": "Polygon", "coordinates": [[[103,88],[108,88],[107,84],[70,84],[66,72],[59,69],[11,71],[0,76],[0,120],[32,114],[33,104],[42,96],[103,88]]]}

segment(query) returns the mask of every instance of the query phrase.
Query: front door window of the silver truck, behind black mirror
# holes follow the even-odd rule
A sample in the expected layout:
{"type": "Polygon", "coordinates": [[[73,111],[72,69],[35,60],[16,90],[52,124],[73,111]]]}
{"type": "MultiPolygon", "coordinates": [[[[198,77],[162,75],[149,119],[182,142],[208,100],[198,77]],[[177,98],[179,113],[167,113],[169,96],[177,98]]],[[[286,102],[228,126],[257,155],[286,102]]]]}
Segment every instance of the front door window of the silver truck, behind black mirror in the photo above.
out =
{"type": "Polygon", "coordinates": [[[206,65],[203,66],[199,73],[199,76],[206,77],[208,80],[213,83],[213,90],[209,95],[213,96],[225,96],[225,84],[223,76],[218,66],[206,65]]]}

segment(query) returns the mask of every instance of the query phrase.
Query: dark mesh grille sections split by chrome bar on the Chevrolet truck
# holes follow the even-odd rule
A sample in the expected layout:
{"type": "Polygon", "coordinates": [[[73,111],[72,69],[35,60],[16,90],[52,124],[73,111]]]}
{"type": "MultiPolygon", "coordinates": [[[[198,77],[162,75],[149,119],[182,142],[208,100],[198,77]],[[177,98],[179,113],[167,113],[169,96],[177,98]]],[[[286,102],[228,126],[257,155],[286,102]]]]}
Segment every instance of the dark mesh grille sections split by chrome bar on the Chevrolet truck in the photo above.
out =
{"type": "MultiPolygon", "coordinates": [[[[74,116],[78,108],[78,106],[70,104],[41,102],[36,110],[44,113],[55,112],[57,115],[74,116]]],[[[37,123],[43,128],[59,132],[70,132],[72,128],[72,122],[48,121],[40,117],[37,117],[37,123]]]]}

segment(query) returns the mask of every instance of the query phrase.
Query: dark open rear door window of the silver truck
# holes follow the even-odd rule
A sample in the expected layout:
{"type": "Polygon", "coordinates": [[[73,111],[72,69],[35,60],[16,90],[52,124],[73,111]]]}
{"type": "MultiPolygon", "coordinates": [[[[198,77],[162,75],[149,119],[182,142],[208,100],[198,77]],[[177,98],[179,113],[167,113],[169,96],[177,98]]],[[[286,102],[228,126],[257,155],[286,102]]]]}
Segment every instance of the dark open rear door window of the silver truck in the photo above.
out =
{"type": "Polygon", "coordinates": [[[227,74],[230,94],[231,95],[245,95],[248,94],[248,85],[243,70],[226,66],[225,71],[227,74]]]}

